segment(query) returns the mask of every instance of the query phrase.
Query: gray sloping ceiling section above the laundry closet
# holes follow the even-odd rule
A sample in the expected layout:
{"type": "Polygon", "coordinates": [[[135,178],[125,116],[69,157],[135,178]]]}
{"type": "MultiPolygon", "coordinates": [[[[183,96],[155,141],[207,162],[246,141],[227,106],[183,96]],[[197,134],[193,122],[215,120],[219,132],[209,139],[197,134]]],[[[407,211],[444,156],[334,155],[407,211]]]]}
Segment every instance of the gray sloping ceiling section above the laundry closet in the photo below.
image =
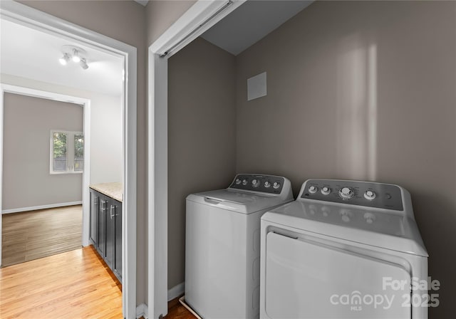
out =
{"type": "Polygon", "coordinates": [[[312,2],[249,0],[206,31],[202,38],[237,56],[312,2]]]}

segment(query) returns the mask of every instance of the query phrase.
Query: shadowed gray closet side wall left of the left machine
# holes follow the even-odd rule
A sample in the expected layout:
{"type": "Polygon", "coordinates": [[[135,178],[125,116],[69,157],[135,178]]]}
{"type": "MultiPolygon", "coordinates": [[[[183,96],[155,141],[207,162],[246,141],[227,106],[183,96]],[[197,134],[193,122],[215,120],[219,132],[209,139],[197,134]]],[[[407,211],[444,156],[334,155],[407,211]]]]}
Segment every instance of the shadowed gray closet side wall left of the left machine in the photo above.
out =
{"type": "Polygon", "coordinates": [[[234,56],[197,38],[169,60],[168,288],[185,281],[185,197],[234,177],[234,56]]]}

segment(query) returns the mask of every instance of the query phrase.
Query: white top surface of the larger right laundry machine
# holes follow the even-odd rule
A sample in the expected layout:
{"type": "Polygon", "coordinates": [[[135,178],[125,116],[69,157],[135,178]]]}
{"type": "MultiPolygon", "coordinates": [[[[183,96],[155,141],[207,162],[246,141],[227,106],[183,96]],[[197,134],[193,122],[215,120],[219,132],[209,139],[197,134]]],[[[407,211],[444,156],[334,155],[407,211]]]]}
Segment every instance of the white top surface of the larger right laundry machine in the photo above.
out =
{"type": "Polygon", "coordinates": [[[296,201],[268,211],[261,219],[361,244],[428,256],[418,226],[403,212],[296,201]]]}

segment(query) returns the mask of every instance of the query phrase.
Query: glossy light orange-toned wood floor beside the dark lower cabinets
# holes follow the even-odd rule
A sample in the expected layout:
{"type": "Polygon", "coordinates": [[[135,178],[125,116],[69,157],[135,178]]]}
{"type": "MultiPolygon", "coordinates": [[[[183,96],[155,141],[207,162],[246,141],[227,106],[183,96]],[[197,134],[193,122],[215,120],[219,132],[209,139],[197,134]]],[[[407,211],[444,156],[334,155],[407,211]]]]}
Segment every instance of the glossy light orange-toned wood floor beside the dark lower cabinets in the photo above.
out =
{"type": "Polygon", "coordinates": [[[0,268],[0,318],[123,318],[122,288],[93,246],[0,268]]]}

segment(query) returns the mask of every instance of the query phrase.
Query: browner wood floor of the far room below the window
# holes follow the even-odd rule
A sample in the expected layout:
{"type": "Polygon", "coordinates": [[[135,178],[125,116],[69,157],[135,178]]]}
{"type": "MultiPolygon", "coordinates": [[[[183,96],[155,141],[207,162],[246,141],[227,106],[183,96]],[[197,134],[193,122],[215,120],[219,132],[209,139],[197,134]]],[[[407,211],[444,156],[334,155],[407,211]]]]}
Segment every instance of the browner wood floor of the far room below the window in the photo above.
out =
{"type": "Polygon", "coordinates": [[[4,214],[1,266],[81,248],[82,205],[4,214]]]}

